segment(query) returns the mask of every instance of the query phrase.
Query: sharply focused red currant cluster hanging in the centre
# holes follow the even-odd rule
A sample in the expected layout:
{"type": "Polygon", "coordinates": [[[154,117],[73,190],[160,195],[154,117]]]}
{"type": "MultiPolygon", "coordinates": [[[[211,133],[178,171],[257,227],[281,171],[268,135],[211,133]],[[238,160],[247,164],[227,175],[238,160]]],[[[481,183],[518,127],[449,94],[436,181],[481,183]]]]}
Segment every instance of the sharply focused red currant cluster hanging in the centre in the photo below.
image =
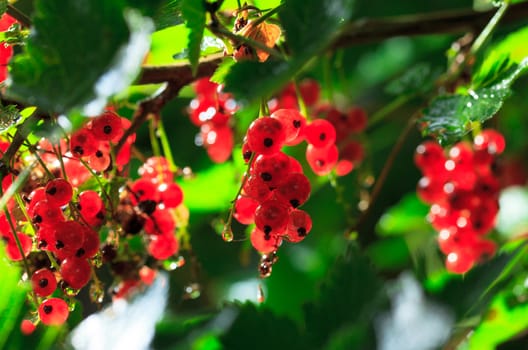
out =
{"type": "Polygon", "coordinates": [[[281,151],[302,140],[304,117],[295,109],[283,109],[251,123],[243,146],[250,163],[234,217],[242,224],[255,223],[253,247],[263,254],[276,251],[283,238],[300,242],[310,232],[308,213],[298,209],[310,196],[310,181],[301,164],[281,151]]]}

